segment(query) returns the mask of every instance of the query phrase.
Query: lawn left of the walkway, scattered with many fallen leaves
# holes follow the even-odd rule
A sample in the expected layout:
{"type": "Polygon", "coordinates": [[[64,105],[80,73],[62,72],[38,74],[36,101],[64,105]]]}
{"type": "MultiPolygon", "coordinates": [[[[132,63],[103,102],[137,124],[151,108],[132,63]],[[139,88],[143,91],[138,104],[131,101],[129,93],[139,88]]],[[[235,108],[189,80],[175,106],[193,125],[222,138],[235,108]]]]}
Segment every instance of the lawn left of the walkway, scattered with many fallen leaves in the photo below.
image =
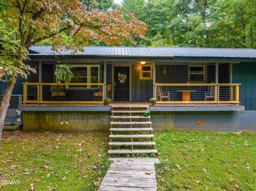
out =
{"type": "Polygon", "coordinates": [[[110,161],[108,134],[3,132],[0,184],[4,191],[88,190],[100,186],[110,161]]]}

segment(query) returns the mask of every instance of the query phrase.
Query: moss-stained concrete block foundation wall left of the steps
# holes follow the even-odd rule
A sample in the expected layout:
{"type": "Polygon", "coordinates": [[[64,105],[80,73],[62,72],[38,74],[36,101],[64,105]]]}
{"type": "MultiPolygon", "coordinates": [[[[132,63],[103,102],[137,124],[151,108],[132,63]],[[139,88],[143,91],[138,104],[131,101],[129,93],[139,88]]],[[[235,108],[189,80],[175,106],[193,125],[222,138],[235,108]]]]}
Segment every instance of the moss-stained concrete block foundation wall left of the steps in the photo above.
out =
{"type": "Polygon", "coordinates": [[[24,131],[104,132],[110,128],[111,112],[23,111],[24,131]]]}

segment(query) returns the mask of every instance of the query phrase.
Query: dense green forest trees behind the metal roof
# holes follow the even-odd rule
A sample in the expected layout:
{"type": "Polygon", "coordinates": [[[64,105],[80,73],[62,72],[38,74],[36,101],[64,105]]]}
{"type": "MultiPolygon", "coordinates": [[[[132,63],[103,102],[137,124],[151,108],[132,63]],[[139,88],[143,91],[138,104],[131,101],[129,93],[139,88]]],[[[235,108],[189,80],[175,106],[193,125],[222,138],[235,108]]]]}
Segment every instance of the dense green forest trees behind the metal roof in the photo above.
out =
{"type": "MultiPolygon", "coordinates": [[[[88,8],[111,10],[114,0],[80,0],[88,8]]],[[[136,38],[120,46],[256,48],[255,0],[123,0],[125,11],[134,10],[137,20],[148,24],[146,40],[136,38]]],[[[0,0],[0,14],[6,14],[0,0]]],[[[15,41],[18,31],[6,28],[0,15],[0,39],[15,41]]],[[[63,41],[69,41],[68,33],[63,41]]],[[[51,39],[40,42],[50,45],[51,39]]],[[[92,46],[105,46],[90,41],[92,46]]]]}

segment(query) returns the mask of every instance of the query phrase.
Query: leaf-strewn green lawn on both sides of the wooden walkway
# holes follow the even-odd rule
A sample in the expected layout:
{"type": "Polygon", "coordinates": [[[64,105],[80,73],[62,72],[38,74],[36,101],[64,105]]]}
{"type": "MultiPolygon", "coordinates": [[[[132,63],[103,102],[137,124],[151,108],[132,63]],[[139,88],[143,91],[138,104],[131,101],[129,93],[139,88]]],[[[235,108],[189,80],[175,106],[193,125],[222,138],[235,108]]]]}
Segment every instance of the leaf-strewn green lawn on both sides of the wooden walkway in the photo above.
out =
{"type": "MultiPolygon", "coordinates": [[[[256,190],[255,132],[154,134],[158,191],[256,190]]],[[[96,191],[110,165],[108,141],[108,133],[4,131],[0,181],[20,184],[0,190],[96,191]]]]}

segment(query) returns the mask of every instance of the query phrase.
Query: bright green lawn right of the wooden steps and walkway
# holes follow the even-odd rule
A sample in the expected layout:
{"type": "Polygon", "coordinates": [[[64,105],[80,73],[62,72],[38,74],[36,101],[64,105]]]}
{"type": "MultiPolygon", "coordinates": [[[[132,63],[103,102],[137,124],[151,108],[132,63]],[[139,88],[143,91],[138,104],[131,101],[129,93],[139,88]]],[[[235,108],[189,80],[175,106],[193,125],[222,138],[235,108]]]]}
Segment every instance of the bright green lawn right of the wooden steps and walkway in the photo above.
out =
{"type": "Polygon", "coordinates": [[[256,133],[155,133],[159,191],[256,190],[256,133]]]}

